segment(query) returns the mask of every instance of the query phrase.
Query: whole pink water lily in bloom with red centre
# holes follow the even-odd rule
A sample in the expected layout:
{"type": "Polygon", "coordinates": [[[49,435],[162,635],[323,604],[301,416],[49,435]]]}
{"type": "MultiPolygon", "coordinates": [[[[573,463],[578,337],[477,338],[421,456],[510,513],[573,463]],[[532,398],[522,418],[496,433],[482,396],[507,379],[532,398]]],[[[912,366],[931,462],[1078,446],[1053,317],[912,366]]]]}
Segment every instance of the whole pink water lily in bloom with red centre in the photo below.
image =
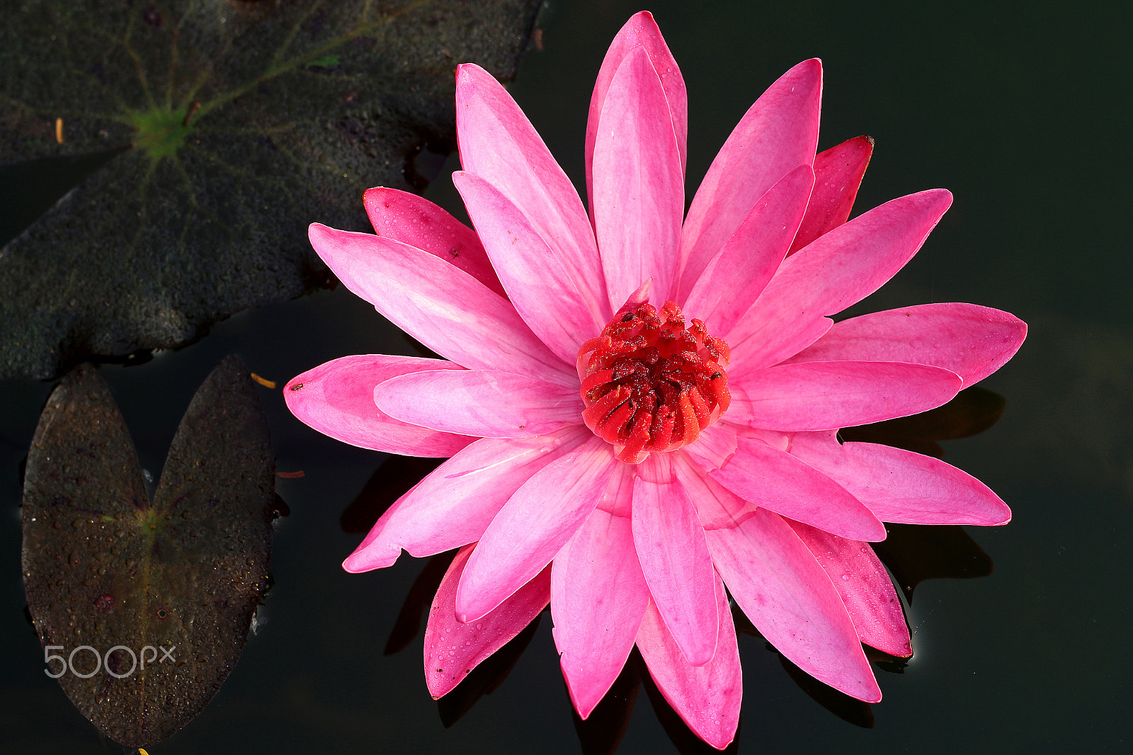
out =
{"type": "Polygon", "coordinates": [[[376,235],[310,227],[343,285],[444,357],[349,356],[284,389],[327,435],[451,457],[344,563],[460,549],[426,630],[434,696],[550,602],[582,718],[637,645],[666,699],[723,748],[742,688],[726,586],[787,659],[878,701],[862,643],[912,652],[868,545],[881,523],[1010,519],[938,459],[837,439],[948,401],[1002,366],[1025,325],[969,304],[830,320],[917,253],[952,196],[846,222],[872,142],[816,155],[820,92],[818,60],[775,82],[685,215],[684,83],[641,12],[595,85],[589,214],[516,102],[465,65],[453,180],[475,231],[387,188],[365,196],[376,235]]]}

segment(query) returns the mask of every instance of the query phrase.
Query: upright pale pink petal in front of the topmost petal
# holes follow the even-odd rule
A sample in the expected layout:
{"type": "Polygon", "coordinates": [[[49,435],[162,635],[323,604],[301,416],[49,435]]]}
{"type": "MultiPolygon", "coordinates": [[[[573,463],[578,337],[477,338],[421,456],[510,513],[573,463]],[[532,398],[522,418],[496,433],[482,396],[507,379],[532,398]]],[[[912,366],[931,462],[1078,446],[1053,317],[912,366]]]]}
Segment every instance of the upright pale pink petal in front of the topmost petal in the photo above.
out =
{"type": "Polygon", "coordinates": [[[594,142],[594,229],[611,311],[647,278],[658,302],[676,278],[684,173],[661,78],[644,48],[610,82],[594,142]]]}

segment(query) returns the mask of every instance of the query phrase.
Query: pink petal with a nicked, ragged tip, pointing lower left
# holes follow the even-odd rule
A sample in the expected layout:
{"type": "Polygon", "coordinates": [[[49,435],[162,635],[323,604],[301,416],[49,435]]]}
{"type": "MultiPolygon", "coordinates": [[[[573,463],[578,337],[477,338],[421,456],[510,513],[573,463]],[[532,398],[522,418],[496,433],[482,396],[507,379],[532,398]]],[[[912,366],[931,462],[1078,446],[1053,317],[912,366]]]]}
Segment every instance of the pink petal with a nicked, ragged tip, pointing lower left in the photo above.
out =
{"type": "Polygon", "coordinates": [[[479,540],[531,475],[593,439],[586,427],[569,427],[542,438],[476,441],[398,499],[342,568],[380,569],[397,561],[401,549],[432,555],[479,540]]]}

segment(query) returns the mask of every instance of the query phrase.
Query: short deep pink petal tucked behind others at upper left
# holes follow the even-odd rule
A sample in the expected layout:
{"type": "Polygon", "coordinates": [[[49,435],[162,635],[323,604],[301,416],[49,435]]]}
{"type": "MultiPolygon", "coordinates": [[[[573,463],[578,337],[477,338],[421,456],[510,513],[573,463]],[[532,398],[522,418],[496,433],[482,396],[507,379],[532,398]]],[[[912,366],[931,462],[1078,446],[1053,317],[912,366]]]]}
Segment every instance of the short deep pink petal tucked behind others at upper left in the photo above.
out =
{"type": "Polygon", "coordinates": [[[428,200],[384,186],[361,196],[374,231],[450,262],[500,296],[506,296],[476,231],[428,200]]]}

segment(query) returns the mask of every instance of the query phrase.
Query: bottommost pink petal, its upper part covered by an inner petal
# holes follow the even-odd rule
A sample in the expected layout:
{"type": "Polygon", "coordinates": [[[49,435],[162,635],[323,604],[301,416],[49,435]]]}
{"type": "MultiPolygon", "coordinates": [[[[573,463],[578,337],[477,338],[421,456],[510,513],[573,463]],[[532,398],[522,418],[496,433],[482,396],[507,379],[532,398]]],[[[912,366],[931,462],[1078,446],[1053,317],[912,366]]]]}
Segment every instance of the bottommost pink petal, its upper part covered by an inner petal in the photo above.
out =
{"type": "Polygon", "coordinates": [[[723,618],[716,654],[704,665],[692,665],[668,634],[653,601],[646,609],[637,645],[661,694],[693,732],[716,749],[735,738],[740,722],[743,679],[735,623],[719,577],[713,574],[716,611],[723,618]]]}

